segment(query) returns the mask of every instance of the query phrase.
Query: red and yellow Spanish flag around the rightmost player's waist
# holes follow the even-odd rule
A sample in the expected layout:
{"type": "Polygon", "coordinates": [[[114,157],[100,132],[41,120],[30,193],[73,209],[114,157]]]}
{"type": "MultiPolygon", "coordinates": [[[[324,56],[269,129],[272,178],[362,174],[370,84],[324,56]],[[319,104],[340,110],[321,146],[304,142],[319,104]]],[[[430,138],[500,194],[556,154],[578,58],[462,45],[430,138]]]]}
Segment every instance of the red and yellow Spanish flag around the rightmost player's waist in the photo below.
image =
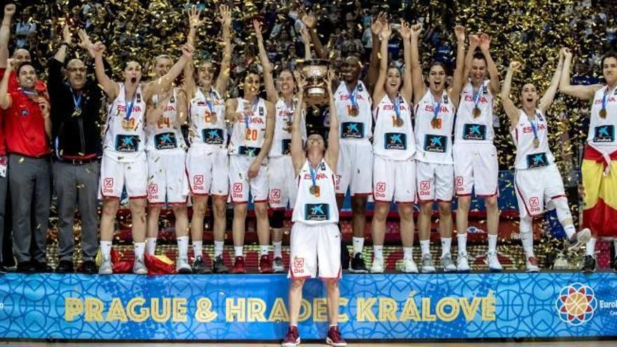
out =
{"type": "Polygon", "coordinates": [[[590,144],[583,155],[583,227],[617,237],[617,151],[602,154],[590,144]]]}

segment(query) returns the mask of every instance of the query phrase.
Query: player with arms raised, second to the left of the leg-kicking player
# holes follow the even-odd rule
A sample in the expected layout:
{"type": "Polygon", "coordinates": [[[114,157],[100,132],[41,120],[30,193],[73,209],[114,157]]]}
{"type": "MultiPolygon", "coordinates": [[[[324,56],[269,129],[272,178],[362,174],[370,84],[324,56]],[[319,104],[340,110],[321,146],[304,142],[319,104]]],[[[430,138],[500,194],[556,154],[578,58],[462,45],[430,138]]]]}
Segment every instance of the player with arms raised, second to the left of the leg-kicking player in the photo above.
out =
{"type": "Polygon", "coordinates": [[[412,26],[412,81],[414,84],[416,135],[416,194],[420,201],[418,231],[422,251],[421,272],[435,272],[430,255],[430,217],[433,201],[439,206],[439,233],[444,271],[456,271],[450,245],[452,243],[452,195],[454,194],[454,168],[452,161],[452,127],[454,114],[459,104],[465,55],[465,34],[462,27],[456,28],[458,49],[453,88],[445,90],[446,70],[441,62],[430,64],[428,88],[422,80],[422,67],[418,53],[418,38],[422,25],[412,26]]]}

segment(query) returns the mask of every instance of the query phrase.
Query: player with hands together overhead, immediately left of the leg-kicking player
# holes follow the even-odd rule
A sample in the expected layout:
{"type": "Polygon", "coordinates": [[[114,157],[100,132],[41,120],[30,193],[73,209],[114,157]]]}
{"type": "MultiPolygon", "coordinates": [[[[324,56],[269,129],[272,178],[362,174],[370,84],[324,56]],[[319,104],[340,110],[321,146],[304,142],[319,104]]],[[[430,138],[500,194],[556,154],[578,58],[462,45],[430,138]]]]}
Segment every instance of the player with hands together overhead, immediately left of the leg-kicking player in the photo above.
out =
{"type": "Polygon", "coordinates": [[[469,35],[461,101],[454,125],[452,153],[454,185],[458,198],[456,238],[459,243],[456,268],[461,272],[470,270],[466,245],[472,190],[476,196],[484,199],[487,209],[489,251],[486,259],[489,269],[502,270],[496,250],[499,227],[499,163],[497,149],[493,144],[493,95],[499,93],[499,72],[491,58],[490,43],[491,38],[487,34],[469,35]],[[480,48],[480,51],[476,48],[480,48]]]}

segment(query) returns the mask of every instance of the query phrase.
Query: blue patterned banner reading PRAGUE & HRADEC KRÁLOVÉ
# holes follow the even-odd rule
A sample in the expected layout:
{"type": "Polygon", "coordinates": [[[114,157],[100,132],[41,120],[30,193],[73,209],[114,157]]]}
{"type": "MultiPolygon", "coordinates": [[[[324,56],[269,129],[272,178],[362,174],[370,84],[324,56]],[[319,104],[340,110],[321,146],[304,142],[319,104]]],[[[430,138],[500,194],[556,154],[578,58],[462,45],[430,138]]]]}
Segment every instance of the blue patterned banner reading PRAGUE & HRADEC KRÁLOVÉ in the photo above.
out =
{"type": "MultiPolygon", "coordinates": [[[[0,277],[0,337],[279,340],[285,275],[0,277]]],[[[346,339],[617,336],[617,275],[345,275],[346,339]]],[[[323,339],[325,290],[304,287],[299,330],[323,339]]]]}

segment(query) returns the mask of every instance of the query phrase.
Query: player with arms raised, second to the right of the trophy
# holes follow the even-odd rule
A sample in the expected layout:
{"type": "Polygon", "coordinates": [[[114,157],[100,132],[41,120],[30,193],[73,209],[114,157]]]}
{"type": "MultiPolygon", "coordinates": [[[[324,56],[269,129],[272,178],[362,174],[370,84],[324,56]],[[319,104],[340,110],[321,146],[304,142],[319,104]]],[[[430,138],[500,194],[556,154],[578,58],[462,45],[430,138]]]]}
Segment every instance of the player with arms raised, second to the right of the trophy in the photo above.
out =
{"type": "MultiPolygon", "coordinates": [[[[416,143],[412,125],[412,62],[410,56],[411,28],[400,22],[400,36],[405,50],[405,74],[397,67],[388,67],[388,39],[390,25],[381,29],[381,60],[379,77],[373,90],[375,137],[373,140],[373,197],[372,273],[384,272],[384,235],[390,203],[394,198],[400,217],[400,236],[403,247],[402,271],[417,273],[412,258],[414,244],[414,200],[416,198],[416,143]],[[402,86],[401,86],[402,85],[402,86]]],[[[377,44],[377,43],[376,43],[377,44]]]]}

